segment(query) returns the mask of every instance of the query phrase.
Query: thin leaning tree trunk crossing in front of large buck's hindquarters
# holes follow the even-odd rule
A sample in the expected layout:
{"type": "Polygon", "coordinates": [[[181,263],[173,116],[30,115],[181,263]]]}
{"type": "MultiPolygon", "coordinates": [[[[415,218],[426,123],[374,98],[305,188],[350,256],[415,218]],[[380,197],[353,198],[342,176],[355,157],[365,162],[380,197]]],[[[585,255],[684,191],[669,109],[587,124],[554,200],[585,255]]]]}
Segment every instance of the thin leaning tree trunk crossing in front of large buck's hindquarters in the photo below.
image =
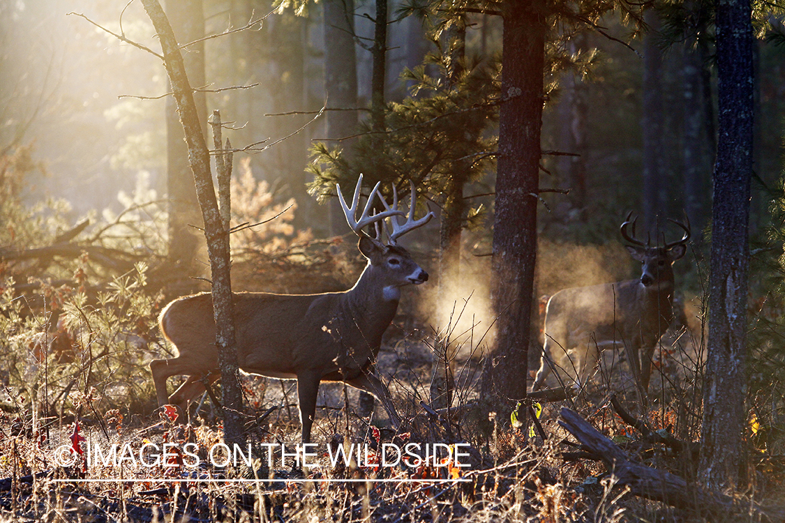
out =
{"type": "Polygon", "coordinates": [[[166,73],[173,89],[174,100],[185,132],[188,160],[191,165],[196,195],[202,209],[207,252],[212,274],[213,311],[216,325],[215,343],[221,368],[221,392],[225,412],[224,439],[228,445],[243,441],[243,395],[237,380],[234,307],[230,276],[229,232],[221,220],[210,171],[210,152],[199,123],[197,110],[183,57],[177,47],[172,27],[158,0],[142,0],[163,50],[166,73]]]}

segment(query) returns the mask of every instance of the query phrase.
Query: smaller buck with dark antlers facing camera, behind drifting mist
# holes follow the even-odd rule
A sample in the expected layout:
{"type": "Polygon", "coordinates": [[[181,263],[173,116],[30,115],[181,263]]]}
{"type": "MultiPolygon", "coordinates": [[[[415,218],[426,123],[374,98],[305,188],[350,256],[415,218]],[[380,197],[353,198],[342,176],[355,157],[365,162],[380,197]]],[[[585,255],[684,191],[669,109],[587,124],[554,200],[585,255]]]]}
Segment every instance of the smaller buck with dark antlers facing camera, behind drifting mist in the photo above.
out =
{"type": "Polygon", "coordinates": [[[548,300],[545,343],[532,390],[542,386],[554,368],[561,376],[586,384],[599,358],[599,351],[623,344],[630,369],[641,390],[648,390],[652,355],[660,336],[674,318],[673,263],[687,252],[687,225],[670,220],[684,230],[677,242],[652,247],[635,238],[632,212],[621,227],[633,260],[642,264],[641,278],[589,287],[564,289],[548,300]],[[632,227],[632,235],[627,227],[632,227]],[[595,344],[596,343],[596,344],[595,344]]]}

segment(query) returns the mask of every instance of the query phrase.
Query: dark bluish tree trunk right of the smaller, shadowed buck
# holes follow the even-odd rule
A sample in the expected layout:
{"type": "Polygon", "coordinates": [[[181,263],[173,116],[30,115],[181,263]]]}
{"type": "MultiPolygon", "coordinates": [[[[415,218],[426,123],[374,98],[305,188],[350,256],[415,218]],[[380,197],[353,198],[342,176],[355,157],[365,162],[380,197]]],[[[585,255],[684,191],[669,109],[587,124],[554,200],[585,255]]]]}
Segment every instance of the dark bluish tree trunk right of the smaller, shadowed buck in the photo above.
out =
{"type": "Polygon", "coordinates": [[[700,459],[700,476],[710,488],[730,488],[737,484],[744,449],[753,129],[750,16],[750,0],[717,2],[719,140],[714,165],[711,314],[700,459]]]}

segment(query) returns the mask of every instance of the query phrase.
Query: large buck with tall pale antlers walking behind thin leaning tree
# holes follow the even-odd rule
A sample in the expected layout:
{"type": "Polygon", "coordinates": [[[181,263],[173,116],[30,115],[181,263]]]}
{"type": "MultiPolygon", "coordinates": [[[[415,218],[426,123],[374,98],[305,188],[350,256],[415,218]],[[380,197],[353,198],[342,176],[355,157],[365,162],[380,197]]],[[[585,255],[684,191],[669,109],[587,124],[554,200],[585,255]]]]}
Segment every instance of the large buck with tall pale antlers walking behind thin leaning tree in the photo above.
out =
{"type": "MultiPolygon", "coordinates": [[[[414,220],[415,191],[411,184],[411,203],[407,220],[397,209],[397,194],[392,208],[378,194],[379,183],[368,196],[356,220],[363,178],[357,181],[352,206],[338,198],[352,231],[360,236],[358,248],[368,260],[363,274],[352,289],[323,294],[235,293],[237,363],[244,372],[271,378],[298,381],[298,401],[302,423],[302,442],[309,443],[316,413],[316,395],[322,381],[343,381],[367,390],[382,401],[394,425],[400,423],[389,390],[374,374],[374,363],[382,344],[382,334],[398,308],[400,288],[420,285],[428,280],[406,249],[396,245],[403,234],[422,227],[433,217],[428,212],[414,220]],[[374,197],[382,200],[385,211],[368,216],[374,197]],[[392,232],[384,226],[389,218],[392,232]],[[374,224],[377,238],[363,233],[374,224]],[[389,237],[382,243],[381,230],[389,237]]],[[[394,191],[393,191],[394,193],[394,191]]],[[[166,306],[160,318],[161,331],[175,347],[177,358],[150,363],[159,405],[167,403],[185,409],[203,393],[202,380],[218,378],[218,353],[212,296],[209,292],[185,296],[166,306]],[[189,376],[171,396],[166,394],[166,379],[189,376]]]]}

